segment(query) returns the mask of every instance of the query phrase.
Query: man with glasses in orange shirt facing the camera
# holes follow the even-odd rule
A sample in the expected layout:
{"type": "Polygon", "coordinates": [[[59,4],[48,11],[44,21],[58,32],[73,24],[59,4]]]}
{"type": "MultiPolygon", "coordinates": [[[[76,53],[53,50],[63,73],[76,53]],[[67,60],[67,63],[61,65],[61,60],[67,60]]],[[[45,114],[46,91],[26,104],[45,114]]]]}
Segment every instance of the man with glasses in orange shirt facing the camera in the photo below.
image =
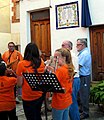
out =
{"type": "Polygon", "coordinates": [[[8,68],[11,68],[14,72],[16,72],[17,64],[23,59],[23,57],[19,51],[15,50],[14,42],[8,43],[8,49],[9,50],[4,52],[2,55],[2,59],[7,64],[8,68]]]}

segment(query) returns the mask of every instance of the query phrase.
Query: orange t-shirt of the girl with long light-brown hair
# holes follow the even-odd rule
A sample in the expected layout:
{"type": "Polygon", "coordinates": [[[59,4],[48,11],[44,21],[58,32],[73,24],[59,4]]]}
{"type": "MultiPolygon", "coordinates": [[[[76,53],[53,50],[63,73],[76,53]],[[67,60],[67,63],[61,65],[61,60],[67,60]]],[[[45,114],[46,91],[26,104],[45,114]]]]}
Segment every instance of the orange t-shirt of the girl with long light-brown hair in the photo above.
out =
{"type": "Polygon", "coordinates": [[[65,93],[53,93],[51,105],[53,108],[61,110],[72,104],[72,82],[70,82],[67,65],[58,68],[55,74],[62,88],[65,89],[65,93]]]}

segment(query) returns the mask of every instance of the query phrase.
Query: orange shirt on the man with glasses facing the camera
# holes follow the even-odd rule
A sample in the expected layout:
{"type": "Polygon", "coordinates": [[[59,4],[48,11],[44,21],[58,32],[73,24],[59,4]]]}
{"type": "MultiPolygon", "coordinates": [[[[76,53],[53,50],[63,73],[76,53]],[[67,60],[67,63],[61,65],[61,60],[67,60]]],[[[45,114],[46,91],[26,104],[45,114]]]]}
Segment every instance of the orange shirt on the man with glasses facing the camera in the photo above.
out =
{"type": "Polygon", "coordinates": [[[13,53],[8,50],[2,55],[2,59],[5,61],[5,63],[7,65],[9,65],[10,63],[13,63],[11,65],[11,68],[12,68],[12,70],[14,70],[16,72],[17,64],[19,61],[23,60],[23,57],[22,57],[21,53],[17,50],[14,50],[13,53]],[[9,56],[10,56],[10,58],[9,58],[9,56]]]}

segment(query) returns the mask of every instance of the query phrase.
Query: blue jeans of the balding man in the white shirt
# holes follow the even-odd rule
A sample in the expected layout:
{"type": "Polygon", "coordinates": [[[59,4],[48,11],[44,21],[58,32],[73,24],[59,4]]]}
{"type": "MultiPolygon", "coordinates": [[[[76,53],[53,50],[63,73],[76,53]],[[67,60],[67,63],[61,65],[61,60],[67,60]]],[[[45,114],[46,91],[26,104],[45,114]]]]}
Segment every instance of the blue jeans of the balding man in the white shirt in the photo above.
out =
{"type": "Polygon", "coordinates": [[[80,78],[75,77],[73,81],[72,100],[73,103],[69,109],[69,116],[71,120],[80,120],[79,108],[77,103],[77,95],[80,89],[80,78]]]}

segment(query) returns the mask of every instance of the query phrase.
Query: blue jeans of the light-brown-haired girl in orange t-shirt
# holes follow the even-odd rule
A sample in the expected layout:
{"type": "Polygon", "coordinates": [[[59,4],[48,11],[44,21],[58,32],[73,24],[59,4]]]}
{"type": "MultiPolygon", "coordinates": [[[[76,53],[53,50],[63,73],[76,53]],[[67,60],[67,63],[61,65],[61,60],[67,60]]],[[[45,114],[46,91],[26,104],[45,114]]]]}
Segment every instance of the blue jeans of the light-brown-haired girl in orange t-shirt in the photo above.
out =
{"type": "Polygon", "coordinates": [[[69,120],[69,108],[70,106],[63,110],[57,110],[57,109],[52,108],[53,120],[69,120]]]}

